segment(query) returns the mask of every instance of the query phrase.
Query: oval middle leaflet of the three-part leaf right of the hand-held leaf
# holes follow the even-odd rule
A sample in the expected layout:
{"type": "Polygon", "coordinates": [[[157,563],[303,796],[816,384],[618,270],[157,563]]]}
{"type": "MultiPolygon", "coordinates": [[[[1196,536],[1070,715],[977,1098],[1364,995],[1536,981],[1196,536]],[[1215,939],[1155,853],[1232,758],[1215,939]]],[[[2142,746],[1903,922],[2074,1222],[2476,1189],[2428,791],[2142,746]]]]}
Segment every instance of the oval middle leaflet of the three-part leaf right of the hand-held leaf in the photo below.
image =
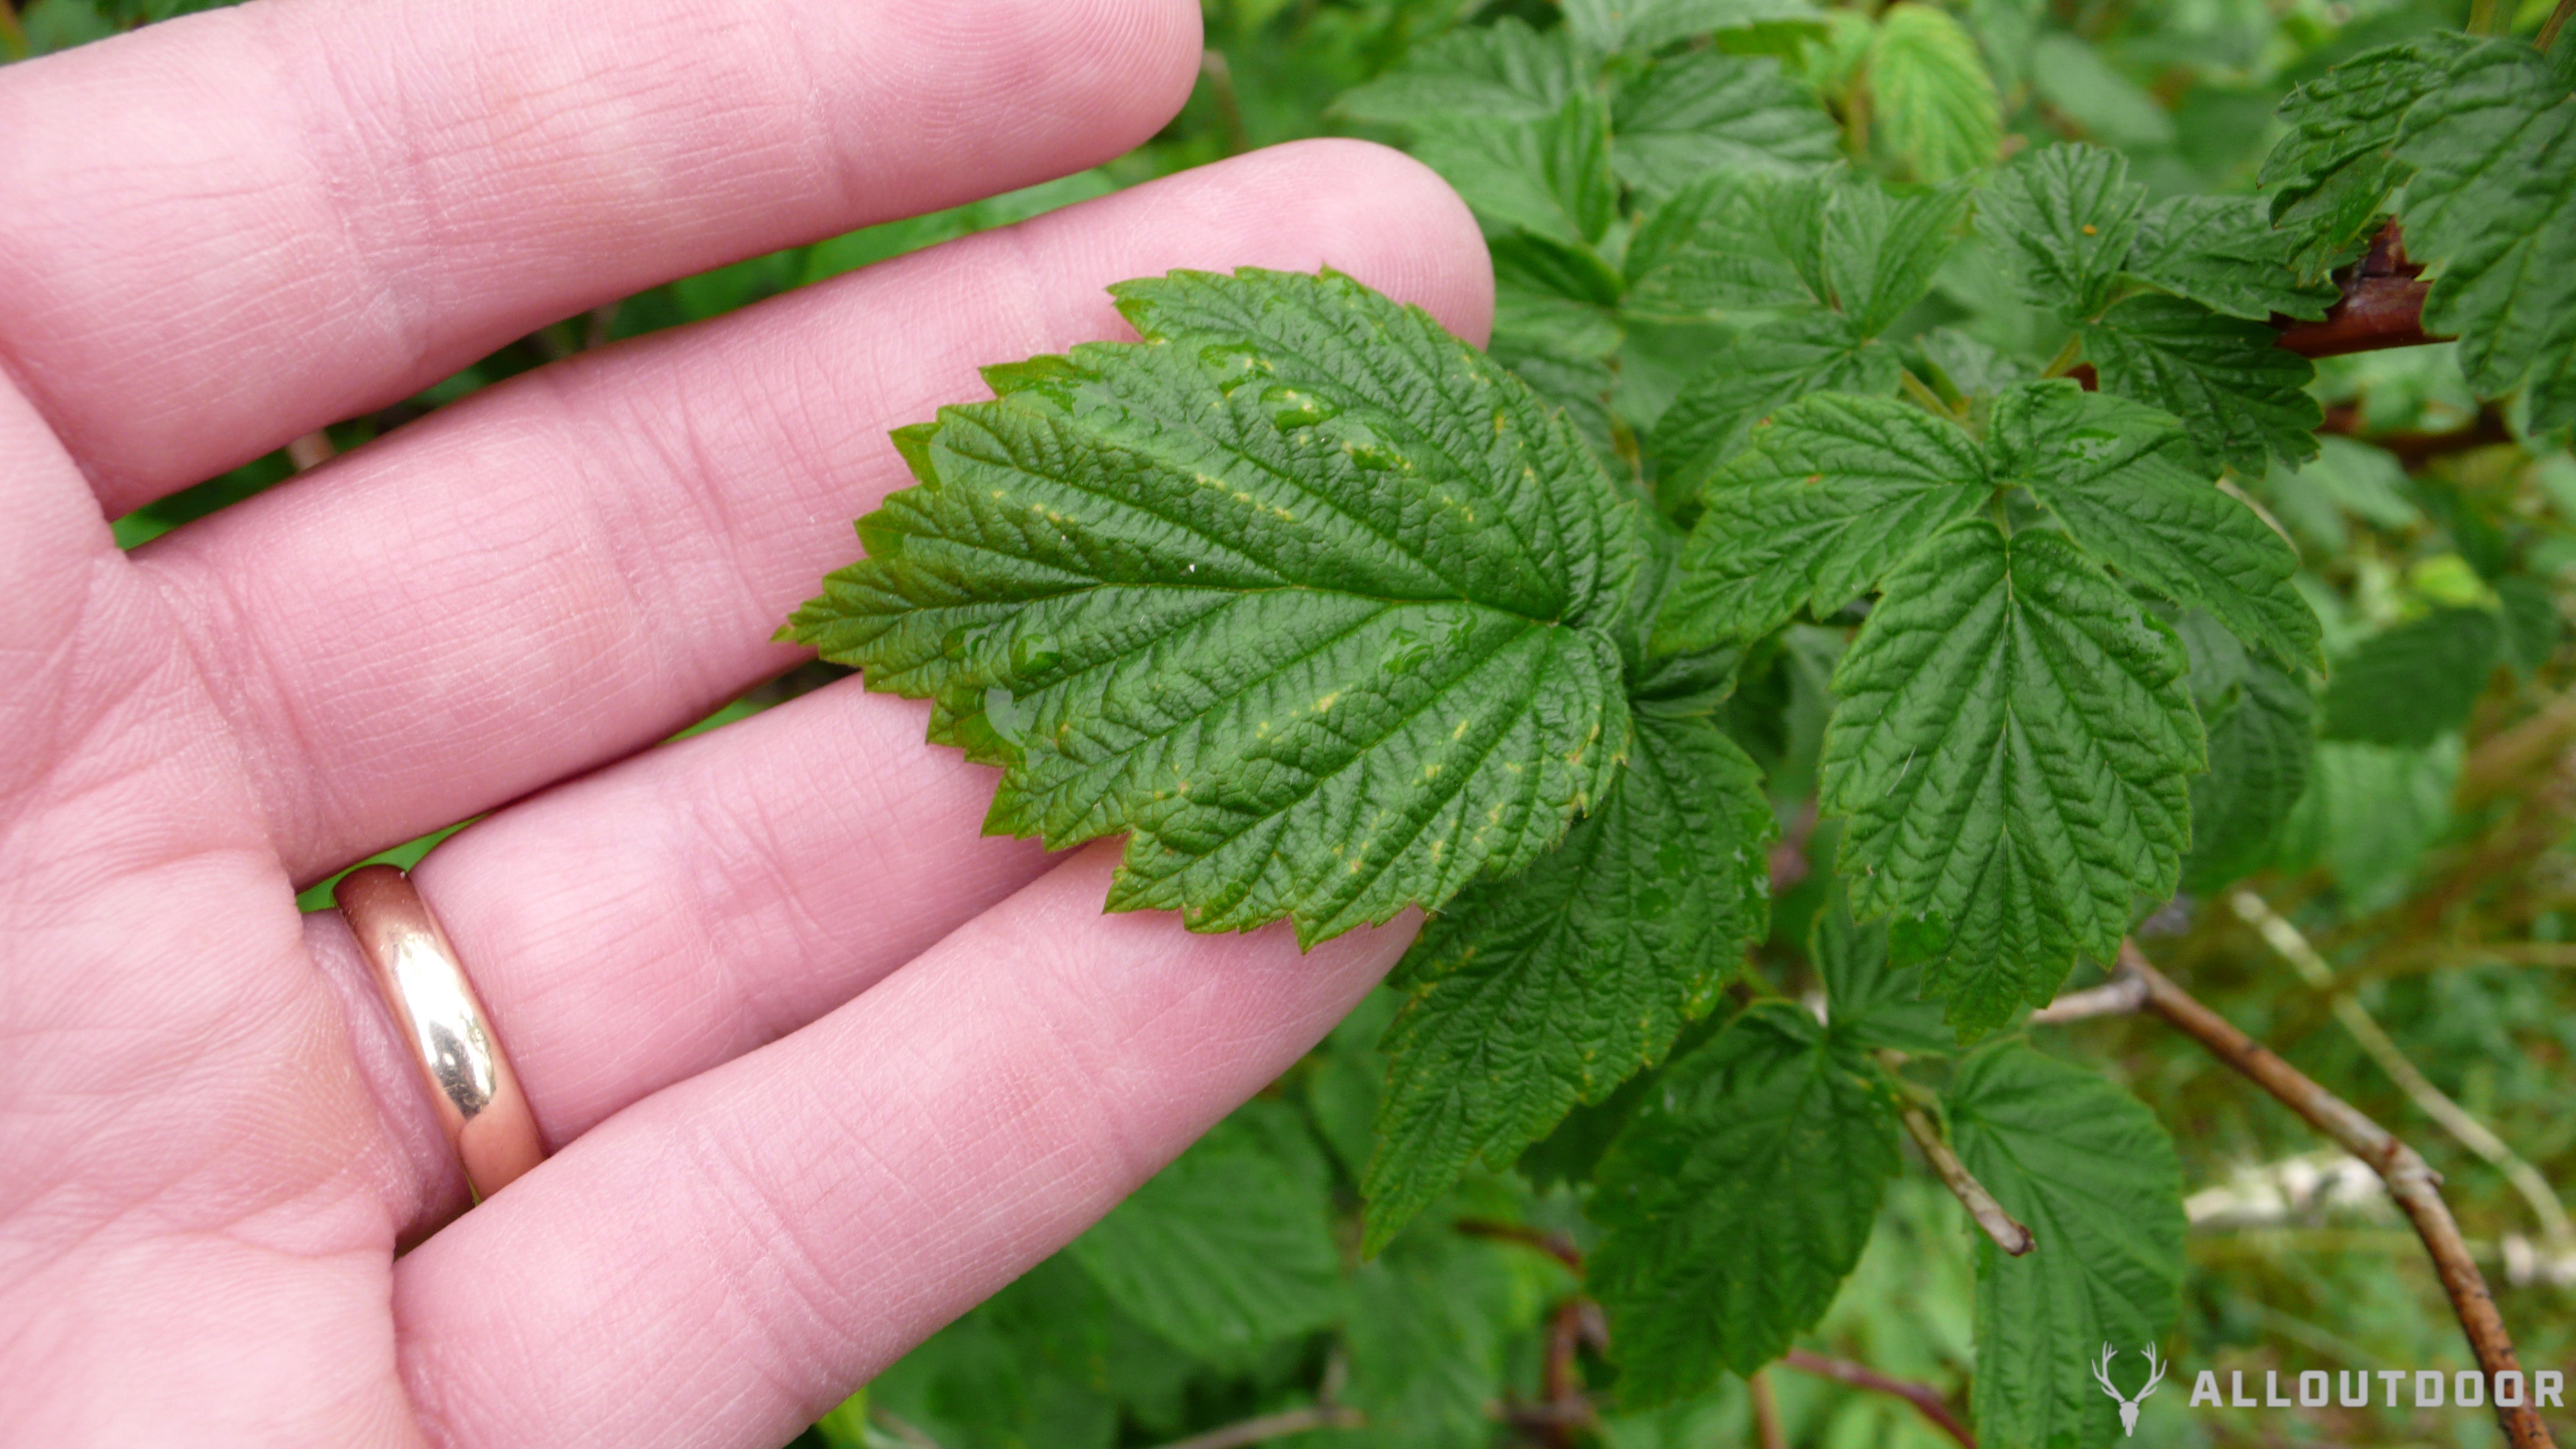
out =
{"type": "Polygon", "coordinates": [[[1826,815],[1950,1024],[2045,1003],[2174,890],[2200,717],[2174,632],[2058,534],[1963,518],[1886,580],[1834,670],[1826,815]]]}

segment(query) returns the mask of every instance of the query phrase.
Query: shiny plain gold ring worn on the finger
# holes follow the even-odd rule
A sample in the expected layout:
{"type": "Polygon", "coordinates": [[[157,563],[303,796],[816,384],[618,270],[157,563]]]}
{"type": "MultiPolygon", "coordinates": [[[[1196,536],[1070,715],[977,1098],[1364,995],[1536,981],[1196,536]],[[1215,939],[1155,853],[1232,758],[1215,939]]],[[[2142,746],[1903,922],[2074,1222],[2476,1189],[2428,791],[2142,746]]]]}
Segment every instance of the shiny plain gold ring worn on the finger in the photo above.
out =
{"type": "Polygon", "coordinates": [[[474,1201],[497,1194],[544,1160],[546,1147],[456,946],[412,877],[394,866],[358,866],[330,895],[412,1044],[474,1201]]]}

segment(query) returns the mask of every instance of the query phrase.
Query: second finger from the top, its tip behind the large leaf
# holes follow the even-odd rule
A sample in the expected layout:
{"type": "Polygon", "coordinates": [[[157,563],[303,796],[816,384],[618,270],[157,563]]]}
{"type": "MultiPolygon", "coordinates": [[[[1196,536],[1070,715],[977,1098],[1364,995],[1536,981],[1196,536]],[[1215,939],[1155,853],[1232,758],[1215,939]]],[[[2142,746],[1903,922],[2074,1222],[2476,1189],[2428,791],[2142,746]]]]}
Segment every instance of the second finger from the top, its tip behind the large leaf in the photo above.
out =
{"type": "Polygon", "coordinates": [[[976,366],[1126,335],[1103,289],[1342,268],[1481,338],[1484,242],[1425,168],[1303,142],[484,389],[139,552],[289,871],[626,755],[773,676],[770,632],[909,482],[886,431],[976,366]]]}

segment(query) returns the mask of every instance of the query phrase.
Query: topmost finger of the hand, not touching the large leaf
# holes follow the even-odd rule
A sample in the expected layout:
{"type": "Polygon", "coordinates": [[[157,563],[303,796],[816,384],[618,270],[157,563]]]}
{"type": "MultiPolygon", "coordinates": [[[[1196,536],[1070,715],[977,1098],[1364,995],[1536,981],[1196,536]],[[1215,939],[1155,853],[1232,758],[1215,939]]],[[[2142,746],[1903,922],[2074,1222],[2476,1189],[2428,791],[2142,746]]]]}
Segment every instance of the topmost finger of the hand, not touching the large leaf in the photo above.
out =
{"type": "Polygon", "coordinates": [[[629,291],[1146,139],[1190,0],[258,0],[0,70],[0,366],[124,513],[629,291]]]}

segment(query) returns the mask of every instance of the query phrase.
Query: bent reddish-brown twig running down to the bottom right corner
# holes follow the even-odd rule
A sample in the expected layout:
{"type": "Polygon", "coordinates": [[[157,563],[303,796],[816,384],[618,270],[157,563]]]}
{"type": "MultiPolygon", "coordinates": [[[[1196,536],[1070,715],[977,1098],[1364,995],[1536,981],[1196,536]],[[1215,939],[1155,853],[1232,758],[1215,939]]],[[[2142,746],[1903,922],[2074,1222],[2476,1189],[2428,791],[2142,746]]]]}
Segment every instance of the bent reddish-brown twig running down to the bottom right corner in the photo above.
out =
{"type": "MultiPolygon", "coordinates": [[[[2450,1307],[2460,1318],[2460,1333],[2468,1336],[2468,1348],[2476,1354],[2478,1369],[2488,1379],[2496,1374],[2519,1374],[2522,1364],[2514,1359],[2514,1341],[2504,1330],[2496,1299],[2486,1292],[2486,1276],[2478,1274],[2478,1263],[2460,1238],[2460,1225],[2450,1217],[2450,1204],[2442,1201],[2439,1173],[2424,1165],[2424,1158],[2388,1134],[2385,1127],[2308,1080],[2306,1073],[2239,1031],[2226,1016],[2218,1016],[2166,980],[2148,964],[2136,941],[2120,941],[2120,969],[2146,982],[2146,1011],[2161,1016],[2184,1036],[2200,1042],[2213,1057],[2244,1073],[2254,1085],[2280,1098],[2308,1127],[2331,1137],[2388,1183],[2388,1196],[2414,1222],[2416,1238],[2424,1240],[2424,1250],[2432,1256],[2434,1276],[2442,1279],[2442,1292],[2450,1294],[2450,1307]]],[[[2527,1403],[2517,1408],[2496,1405],[2496,1423],[2504,1426],[2504,1441],[2512,1449],[2555,1449],[2548,1426],[2540,1423],[2540,1415],[2527,1403]]]]}

